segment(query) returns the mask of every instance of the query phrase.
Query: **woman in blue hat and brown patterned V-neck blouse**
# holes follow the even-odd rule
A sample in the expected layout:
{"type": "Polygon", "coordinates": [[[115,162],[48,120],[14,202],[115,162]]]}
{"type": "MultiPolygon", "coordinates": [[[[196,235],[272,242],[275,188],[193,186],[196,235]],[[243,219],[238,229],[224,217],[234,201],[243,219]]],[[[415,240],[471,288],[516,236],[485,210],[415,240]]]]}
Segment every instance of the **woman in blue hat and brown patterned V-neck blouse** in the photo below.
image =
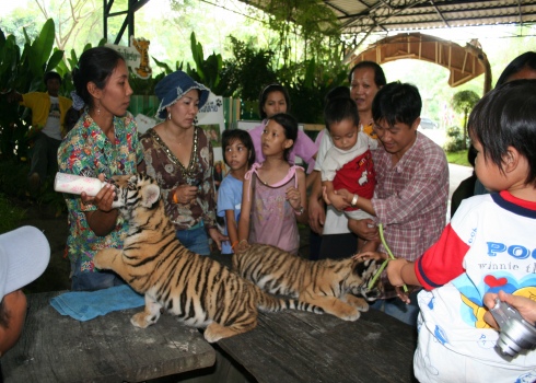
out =
{"type": "Polygon", "coordinates": [[[205,131],[195,126],[199,109],[210,91],[177,70],[155,88],[162,119],[141,136],[145,172],[160,185],[165,212],[177,237],[188,249],[209,255],[209,236],[221,249],[226,240],[215,223],[213,152],[205,131]]]}

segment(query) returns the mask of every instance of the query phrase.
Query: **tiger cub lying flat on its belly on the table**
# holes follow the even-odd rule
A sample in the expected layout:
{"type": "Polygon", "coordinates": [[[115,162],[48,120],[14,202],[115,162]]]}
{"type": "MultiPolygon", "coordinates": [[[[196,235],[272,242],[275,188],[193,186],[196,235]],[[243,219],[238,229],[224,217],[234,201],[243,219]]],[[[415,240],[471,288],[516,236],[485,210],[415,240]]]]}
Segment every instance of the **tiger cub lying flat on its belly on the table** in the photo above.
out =
{"type": "Polygon", "coordinates": [[[366,300],[381,292],[369,289],[380,265],[375,260],[307,260],[278,247],[252,244],[233,255],[233,269],[272,294],[298,298],[345,321],[356,321],[368,311],[366,300]]]}

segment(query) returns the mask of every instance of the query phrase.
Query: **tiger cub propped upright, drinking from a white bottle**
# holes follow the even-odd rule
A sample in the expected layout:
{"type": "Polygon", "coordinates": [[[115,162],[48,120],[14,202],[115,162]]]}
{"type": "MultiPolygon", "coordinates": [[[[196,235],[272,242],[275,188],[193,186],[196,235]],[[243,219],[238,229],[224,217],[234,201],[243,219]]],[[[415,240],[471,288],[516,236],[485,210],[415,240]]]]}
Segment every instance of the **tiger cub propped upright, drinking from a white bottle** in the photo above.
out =
{"type": "Polygon", "coordinates": [[[145,295],[144,311],[130,322],[145,328],[163,307],[182,322],[206,327],[205,338],[245,333],[257,325],[257,310],[296,309],[322,313],[311,304],[272,297],[209,257],[184,247],[164,212],[159,185],[143,174],[114,177],[119,211],[129,223],[124,248],[106,248],[94,257],[145,295]]]}

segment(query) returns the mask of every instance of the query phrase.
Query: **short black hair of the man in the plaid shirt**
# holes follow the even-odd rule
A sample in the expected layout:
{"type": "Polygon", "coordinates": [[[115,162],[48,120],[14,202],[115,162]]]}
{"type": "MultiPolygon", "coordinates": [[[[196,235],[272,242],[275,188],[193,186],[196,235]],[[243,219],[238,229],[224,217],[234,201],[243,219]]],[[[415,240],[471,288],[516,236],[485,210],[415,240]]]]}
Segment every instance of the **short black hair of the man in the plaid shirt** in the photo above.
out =
{"type": "Polygon", "coordinates": [[[384,119],[391,127],[396,123],[411,126],[420,117],[422,101],[417,86],[391,82],[377,91],[372,102],[374,121],[384,119]]]}

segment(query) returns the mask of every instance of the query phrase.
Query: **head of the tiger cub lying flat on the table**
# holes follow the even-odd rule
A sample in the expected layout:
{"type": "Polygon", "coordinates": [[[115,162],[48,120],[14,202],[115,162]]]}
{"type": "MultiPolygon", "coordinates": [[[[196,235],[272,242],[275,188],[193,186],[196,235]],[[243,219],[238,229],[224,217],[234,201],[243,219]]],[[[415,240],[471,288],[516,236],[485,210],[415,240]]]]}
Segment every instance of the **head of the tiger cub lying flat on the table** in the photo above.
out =
{"type": "Polygon", "coordinates": [[[351,292],[361,295],[368,301],[375,301],[382,295],[382,278],[377,277],[374,286],[369,286],[374,275],[382,266],[381,262],[374,259],[354,259],[352,263],[351,292]]]}

